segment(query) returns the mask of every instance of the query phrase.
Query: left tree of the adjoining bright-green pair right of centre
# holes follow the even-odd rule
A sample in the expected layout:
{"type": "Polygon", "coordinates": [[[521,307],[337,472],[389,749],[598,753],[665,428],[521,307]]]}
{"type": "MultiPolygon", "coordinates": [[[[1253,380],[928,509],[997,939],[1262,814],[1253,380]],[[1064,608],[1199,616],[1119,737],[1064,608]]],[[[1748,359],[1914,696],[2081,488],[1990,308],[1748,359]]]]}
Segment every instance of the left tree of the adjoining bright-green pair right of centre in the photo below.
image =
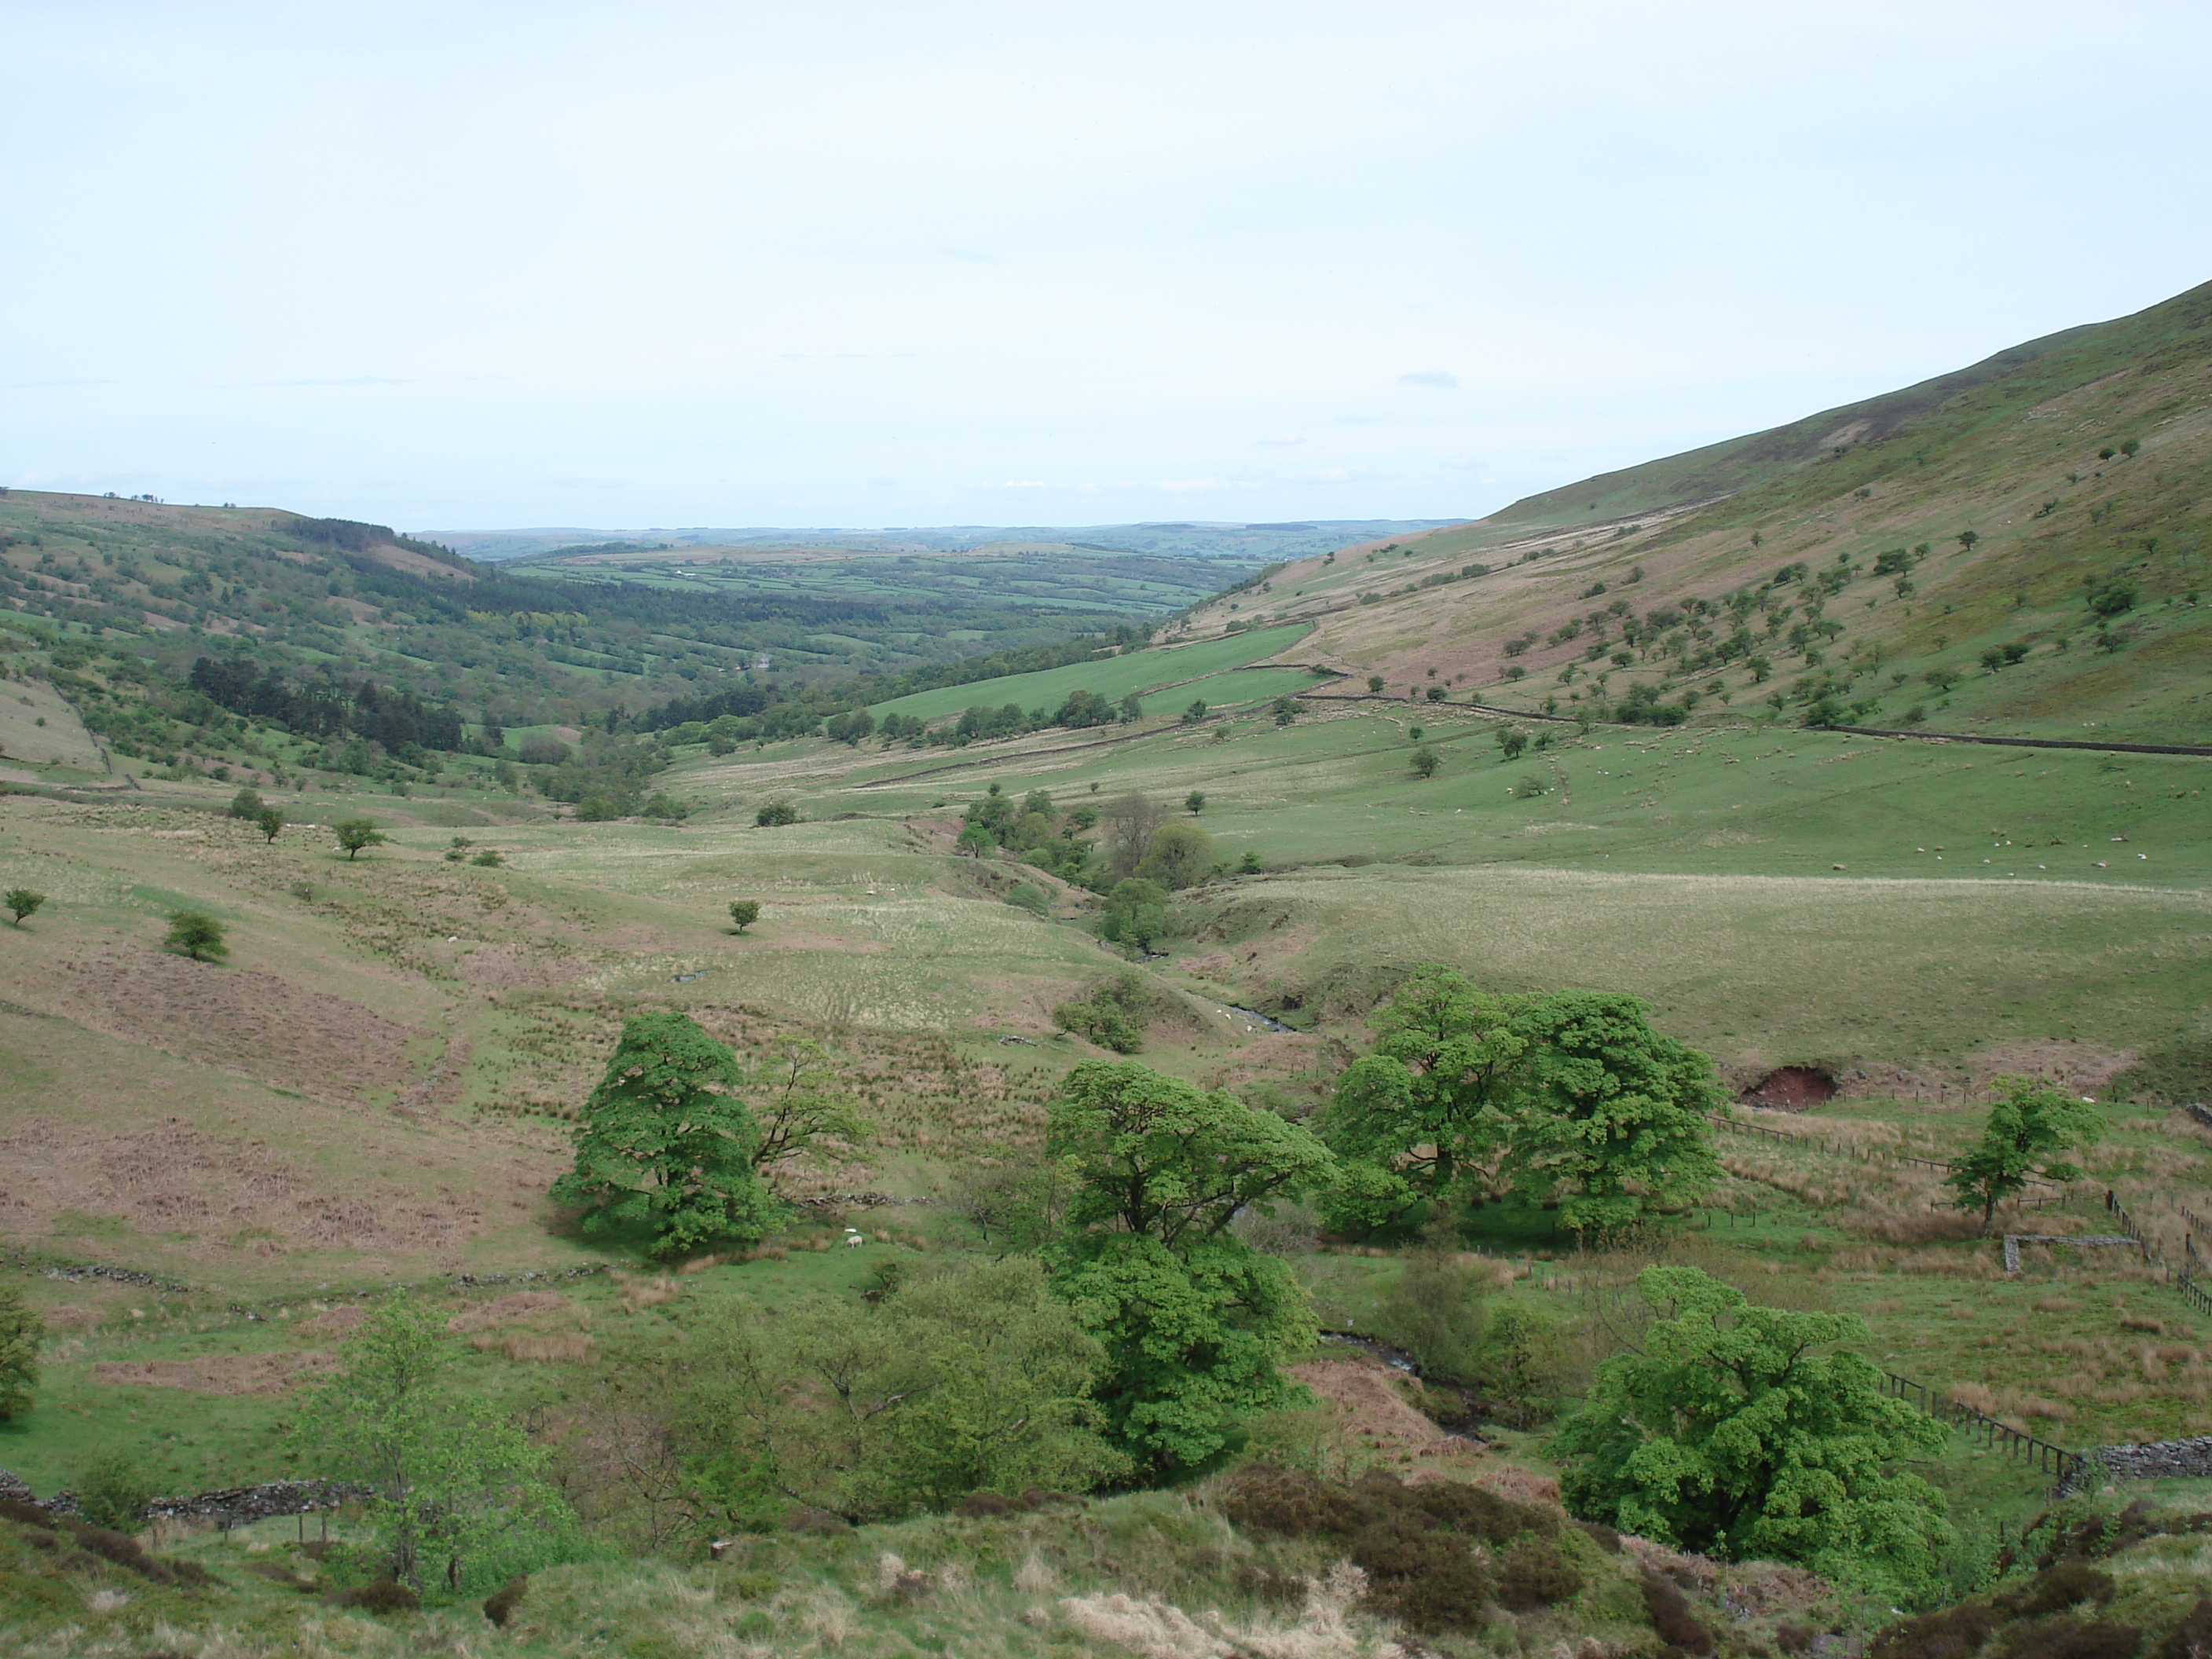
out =
{"type": "Polygon", "coordinates": [[[1321,1115],[1345,1164],[1329,1199],[1340,1221],[1378,1225],[1489,1186],[1528,1053],[1513,1011],[1453,969],[1425,967],[1374,1015],[1374,1048],[1321,1115]]]}

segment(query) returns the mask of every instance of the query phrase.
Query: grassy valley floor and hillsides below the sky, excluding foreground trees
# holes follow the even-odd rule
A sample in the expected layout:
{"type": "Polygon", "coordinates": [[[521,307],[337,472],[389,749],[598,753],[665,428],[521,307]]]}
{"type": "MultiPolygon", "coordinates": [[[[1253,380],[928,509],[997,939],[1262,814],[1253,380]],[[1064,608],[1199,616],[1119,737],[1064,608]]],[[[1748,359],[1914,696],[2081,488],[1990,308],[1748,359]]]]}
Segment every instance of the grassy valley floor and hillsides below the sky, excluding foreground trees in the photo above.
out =
{"type": "MultiPolygon", "coordinates": [[[[133,1579],[86,1624],[38,1557],[60,1546],[13,1517],[11,1617],[55,1655],[1626,1659],[1681,1650],[1666,1582],[1703,1652],[1772,1659],[1812,1626],[1863,1644],[2015,1593],[2064,1528],[2106,1526],[2121,1588],[2064,1606],[2183,1628],[2194,1522],[2117,1517],[2201,1509],[2212,1471],[2053,1493],[2002,1436],[2212,1436],[2190,1283],[2212,1128],[2188,1110],[2212,1075],[2208,294],[1486,520],[1267,560],[730,538],[491,562],[263,509],[0,498],[0,889],[40,898],[0,927],[0,1267],[44,1327],[0,1469],[40,1495],[126,1464],[146,1498],[316,1478],[305,1400],[378,1310],[422,1307],[586,1540],[515,1568],[513,1624],[487,1626],[473,1579],[385,1624],[288,1577],[312,1577],[321,1515],[164,1522],[221,1597],[133,1579]],[[349,821],[380,841],[343,847],[349,821]],[[179,911],[228,956],[166,947],[179,911]],[[759,1332],[849,1336],[834,1321],[907,1318],[938,1283],[1011,1307],[1024,1263],[1073,1272],[1055,1181],[1097,1066],[1135,1055],[1252,1135],[1340,1137],[1338,1091],[1433,969],[1635,998],[1710,1055],[1714,1093],[1683,1093],[1710,1181],[1661,1168],[1635,1225],[1593,1232],[1562,1221],[1564,1177],[1533,1201],[1506,1164],[1360,1225],[1321,1186],[1228,1203],[1239,1272],[1296,1290],[1276,1358],[1310,1394],[1223,1409],[1183,1462],[1024,1464],[1091,1469],[1088,1498],[883,1498],[787,1422],[807,1473],[783,1486],[684,1462],[670,1400],[774,1416],[699,1380],[785,1340],[759,1332]],[[768,1166],[757,1237],[659,1250],[553,1197],[626,1031],[675,1015],[757,1110],[812,1044],[810,1088],[865,1124],[768,1166]],[[1783,1071],[1796,1110],[1730,1104],[1783,1071]],[[1984,1237],[1944,1177],[2002,1079],[2086,1104],[2095,1137],[1984,1237]],[[2132,1243],[2097,1245],[2115,1214],[2132,1243]],[[2006,1232],[2033,1239],[2017,1274],[2006,1232]],[[1564,1520],[1553,1433],[1663,1316],[1637,1290],[1655,1267],[1843,1321],[1823,1354],[1938,1402],[1924,1449],[1882,1462],[1949,1504],[1940,1559],[1854,1577],[1564,1520]],[[1011,1279],[949,1279],[989,1272],[1011,1279]],[[1480,1420],[1460,1433],[1458,1396],[1327,1340],[1347,1332],[1480,1420]],[[706,1343],[714,1365],[688,1358],[706,1343]],[[1491,1540],[1520,1582],[1531,1537],[1573,1571],[1480,1617],[1422,1613],[1418,1573],[1363,1599],[1332,1562],[1365,1548],[1383,1584],[1389,1557],[1270,1528],[1256,1467],[1376,1515],[1400,1500],[1363,1471],[1440,1473],[1531,1506],[1491,1540]]],[[[1024,1332],[1066,1316],[1020,1305],[1024,1332]]],[[[953,1340],[931,1318],[916,1352],[953,1340]]],[[[369,1537],[358,1509],[334,1524],[369,1537]]]]}

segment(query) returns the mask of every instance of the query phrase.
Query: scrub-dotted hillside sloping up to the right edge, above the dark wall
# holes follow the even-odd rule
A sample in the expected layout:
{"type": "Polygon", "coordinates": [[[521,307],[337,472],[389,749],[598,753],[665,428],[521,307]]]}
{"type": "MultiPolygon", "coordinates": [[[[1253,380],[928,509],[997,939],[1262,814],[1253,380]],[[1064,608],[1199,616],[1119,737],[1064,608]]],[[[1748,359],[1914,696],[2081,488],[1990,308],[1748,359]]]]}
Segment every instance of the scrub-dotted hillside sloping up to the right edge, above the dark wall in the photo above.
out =
{"type": "Polygon", "coordinates": [[[2212,741],[2212,283],[1263,573],[1190,633],[1535,712],[2212,741]],[[1670,712],[1652,712],[1670,710],[1670,712]]]}

